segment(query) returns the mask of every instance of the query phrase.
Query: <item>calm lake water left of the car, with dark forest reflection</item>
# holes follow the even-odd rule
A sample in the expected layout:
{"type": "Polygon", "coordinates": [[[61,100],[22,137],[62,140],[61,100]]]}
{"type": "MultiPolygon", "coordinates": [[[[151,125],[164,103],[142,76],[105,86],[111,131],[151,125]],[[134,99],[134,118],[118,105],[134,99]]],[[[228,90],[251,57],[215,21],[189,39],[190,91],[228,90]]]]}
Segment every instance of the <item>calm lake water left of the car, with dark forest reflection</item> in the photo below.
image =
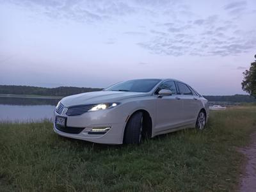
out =
{"type": "Polygon", "coordinates": [[[51,119],[59,100],[0,97],[0,121],[27,122],[51,119]]]}

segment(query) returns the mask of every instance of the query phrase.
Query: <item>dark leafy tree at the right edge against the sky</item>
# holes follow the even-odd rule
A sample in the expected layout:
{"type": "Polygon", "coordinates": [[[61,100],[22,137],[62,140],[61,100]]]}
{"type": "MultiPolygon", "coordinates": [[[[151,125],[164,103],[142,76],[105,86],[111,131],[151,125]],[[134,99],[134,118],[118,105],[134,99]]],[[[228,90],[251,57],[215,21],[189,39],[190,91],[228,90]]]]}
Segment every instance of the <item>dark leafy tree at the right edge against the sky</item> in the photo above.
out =
{"type": "MultiPolygon", "coordinates": [[[[255,54],[256,59],[256,54],[255,54]]],[[[256,60],[251,63],[249,70],[243,72],[244,80],[241,83],[245,92],[249,93],[253,97],[256,97],[256,60]]]]}

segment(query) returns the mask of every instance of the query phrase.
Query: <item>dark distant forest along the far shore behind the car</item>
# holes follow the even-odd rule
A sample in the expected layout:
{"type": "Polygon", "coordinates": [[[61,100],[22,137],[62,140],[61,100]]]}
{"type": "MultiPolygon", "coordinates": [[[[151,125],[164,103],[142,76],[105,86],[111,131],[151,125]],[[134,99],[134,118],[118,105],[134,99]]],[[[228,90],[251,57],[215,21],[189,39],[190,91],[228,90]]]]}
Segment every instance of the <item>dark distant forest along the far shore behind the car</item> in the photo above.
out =
{"type": "MultiPolygon", "coordinates": [[[[86,88],[74,86],[60,86],[58,88],[43,88],[37,86],[16,86],[16,85],[0,85],[0,94],[15,95],[44,95],[44,96],[60,96],[74,95],[84,92],[97,92],[102,88],[86,88]]],[[[224,95],[224,96],[204,96],[209,101],[218,102],[256,102],[256,99],[250,95],[224,95]]]]}

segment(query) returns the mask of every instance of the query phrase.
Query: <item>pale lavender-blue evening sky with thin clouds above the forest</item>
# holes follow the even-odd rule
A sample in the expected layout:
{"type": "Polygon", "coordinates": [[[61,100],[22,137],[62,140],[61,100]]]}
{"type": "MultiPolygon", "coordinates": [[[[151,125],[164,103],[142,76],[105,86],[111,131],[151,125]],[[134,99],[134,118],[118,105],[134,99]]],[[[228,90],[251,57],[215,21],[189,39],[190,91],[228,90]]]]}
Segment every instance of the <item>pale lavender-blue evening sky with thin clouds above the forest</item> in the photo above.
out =
{"type": "Polygon", "coordinates": [[[244,94],[255,19],[255,0],[0,0],[0,84],[172,78],[204,95],[244,94]]]}

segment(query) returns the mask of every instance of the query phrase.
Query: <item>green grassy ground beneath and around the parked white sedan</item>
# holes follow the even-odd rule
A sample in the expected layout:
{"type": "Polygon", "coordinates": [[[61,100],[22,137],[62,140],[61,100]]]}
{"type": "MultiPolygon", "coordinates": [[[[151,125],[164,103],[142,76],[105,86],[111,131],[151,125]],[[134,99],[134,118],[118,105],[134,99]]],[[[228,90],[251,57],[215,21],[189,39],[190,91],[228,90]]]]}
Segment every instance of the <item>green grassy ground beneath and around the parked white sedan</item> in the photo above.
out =
{"type": "Polygon", "coordinates": [[[137,145],[54,134],[51,122],[0,124],[0,191],[234,191],[255,131],[256,108],[212,111],[188,129],[137,145]]]}

